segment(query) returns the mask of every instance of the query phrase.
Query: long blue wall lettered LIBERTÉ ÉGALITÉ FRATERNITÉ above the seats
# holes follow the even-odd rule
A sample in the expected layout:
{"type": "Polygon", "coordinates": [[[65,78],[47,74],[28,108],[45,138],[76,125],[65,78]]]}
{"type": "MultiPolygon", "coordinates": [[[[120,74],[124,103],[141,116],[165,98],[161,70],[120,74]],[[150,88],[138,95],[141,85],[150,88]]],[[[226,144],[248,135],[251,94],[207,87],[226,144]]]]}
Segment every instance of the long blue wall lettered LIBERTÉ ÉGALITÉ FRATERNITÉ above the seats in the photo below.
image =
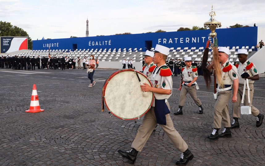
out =
{"type": "MultiPolygon", "coordinates": [[[[255,46],[258,27],[217,29],[218,46],[255,46]]],[[[45,49],[150,49],[156,44],[166,47],[205,47],[210,30],[161,32],[148,34],[111,35],[83,38],[34,40],[33,50],[45,49]]]]}

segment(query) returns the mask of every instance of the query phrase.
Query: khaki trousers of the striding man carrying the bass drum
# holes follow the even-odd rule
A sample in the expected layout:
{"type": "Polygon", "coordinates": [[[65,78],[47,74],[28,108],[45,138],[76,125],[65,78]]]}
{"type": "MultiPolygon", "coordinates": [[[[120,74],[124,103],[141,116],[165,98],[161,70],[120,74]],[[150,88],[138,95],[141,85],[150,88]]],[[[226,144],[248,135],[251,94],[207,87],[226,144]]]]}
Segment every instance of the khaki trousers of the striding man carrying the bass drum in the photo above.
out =
{"type": "MultiPolygon", "coordinates": [[[[169,108],[168,102],[166,102],[166,105],[169,108]]],[[[151,109],[145,114],[142,124],[138,129],[137,135],[132,142],[132,148],[135,148],[135,150],[141,152],[156,125],[157,122],[154,113],[154,107],[151,107],[151,109]]],[[[160,124],[160,126],[169,137],[169,139],[173,142],[175,147],[179,149],[179,151],[185,152],[187,150],[188,145],[174,128],[169,113],[166,114],[166,125],[160,124]]]]}

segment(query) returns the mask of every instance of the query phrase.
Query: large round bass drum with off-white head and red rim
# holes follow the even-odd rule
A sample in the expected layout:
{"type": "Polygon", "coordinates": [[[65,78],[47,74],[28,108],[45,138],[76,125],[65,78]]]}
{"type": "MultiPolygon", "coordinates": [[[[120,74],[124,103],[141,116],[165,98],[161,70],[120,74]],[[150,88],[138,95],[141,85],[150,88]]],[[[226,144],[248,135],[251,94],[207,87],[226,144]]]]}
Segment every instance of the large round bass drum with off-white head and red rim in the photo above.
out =
{"type": "MultiPolygon", "coordinates": [[[[140,72],[137,72],[142,84],[150,81],[140,72]]],[[[124,120],[133,120],[143,116],[151,107],[153,93],[145,92],[143,96],[140,82],[134,70],[120,70],[111,74],[103,87],[104,101],[107,109],[116,117],[124,120]]]]}

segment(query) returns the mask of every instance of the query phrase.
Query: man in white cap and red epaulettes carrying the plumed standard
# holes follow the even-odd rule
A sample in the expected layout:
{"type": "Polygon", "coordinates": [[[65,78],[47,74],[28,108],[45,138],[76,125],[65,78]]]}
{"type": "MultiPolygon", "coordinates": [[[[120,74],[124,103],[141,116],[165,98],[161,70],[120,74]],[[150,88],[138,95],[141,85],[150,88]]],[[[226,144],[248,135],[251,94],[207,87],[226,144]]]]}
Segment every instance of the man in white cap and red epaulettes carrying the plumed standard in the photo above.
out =
{"type": "MultiPolygon", "coordinates": [[[[231,137],[230,130],[230,118],[228,112],[228,101],[232,95],[232,83],[233,83],[233,96],[232,103],[237,102],[237,93],[238,93],[238,71],[236,66],[228,61],[229,49],[226,47],[220,47],[218,50],[219,53],[219,62],[222,70],[222,77],[224,85],[223,87],[217,81],[217,101],[214,105],[214,115],[213,115],[213,124],[214,129],[209,139],[215,140],[219,137],[231,137]],[[218,131],[221,128],[221,122],[223,119],[224,130],[219,135],[218,131]]],[[[206,68],[211,71],[213,67],[213,62],[208,65],[206,68]]]]}

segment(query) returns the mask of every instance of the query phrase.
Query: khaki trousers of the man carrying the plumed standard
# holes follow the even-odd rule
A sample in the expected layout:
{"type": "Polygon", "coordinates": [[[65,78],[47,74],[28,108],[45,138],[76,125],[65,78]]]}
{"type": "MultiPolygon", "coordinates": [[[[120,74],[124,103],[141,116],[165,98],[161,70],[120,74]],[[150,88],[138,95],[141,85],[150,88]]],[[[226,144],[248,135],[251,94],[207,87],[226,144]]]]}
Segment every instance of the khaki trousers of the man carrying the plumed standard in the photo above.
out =
{"type": "Polygon", "coordinates": [[[221,91],[217,93],[217,100],[214,105],[213,126],[214,128],[221,128],[221,122],[223,119],[224,127],[231,127],[228,101],[231,99],[232,90],[221,91]]]}

